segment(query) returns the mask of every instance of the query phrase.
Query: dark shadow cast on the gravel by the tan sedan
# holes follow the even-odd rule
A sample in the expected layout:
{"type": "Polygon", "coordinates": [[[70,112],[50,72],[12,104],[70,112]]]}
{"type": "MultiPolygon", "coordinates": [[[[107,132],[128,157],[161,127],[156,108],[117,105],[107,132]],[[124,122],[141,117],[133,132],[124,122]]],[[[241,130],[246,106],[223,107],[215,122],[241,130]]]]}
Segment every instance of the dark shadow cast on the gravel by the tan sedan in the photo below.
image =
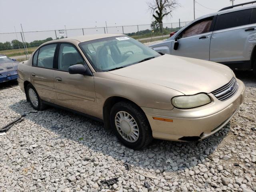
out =
{"type": "Polygon", "coordinates": [[[58,136],[45,134],[43,129],[41,132],[46,138],[38,135],[36,136],[37,140],[40,140],[41,137],[42,140],[53,146],[74,141],[75,143],[71,142],[71,144],[77,144],[77,148],[81,148],[80,150],[83,150],[85,155],[88,155],[89,152],[93,156],[95,153],[102,153],[112,156],[115,160],[133,164],[135,168],[141,167],[148,171],[153,169],[156,172],[162,170],[176,172],[203,162],[214,152],[230,129],[229,123],[222,130],[201,142],[154,140],[147,148],[134,151],[120,144],[112,132],[106,132],[102,123],[84,116],[54,108],[29,113],[33,109],[26,100],[21,100],[9,107],[19,114],[26,112],[26,120],[58,134],[58,136]]]}

